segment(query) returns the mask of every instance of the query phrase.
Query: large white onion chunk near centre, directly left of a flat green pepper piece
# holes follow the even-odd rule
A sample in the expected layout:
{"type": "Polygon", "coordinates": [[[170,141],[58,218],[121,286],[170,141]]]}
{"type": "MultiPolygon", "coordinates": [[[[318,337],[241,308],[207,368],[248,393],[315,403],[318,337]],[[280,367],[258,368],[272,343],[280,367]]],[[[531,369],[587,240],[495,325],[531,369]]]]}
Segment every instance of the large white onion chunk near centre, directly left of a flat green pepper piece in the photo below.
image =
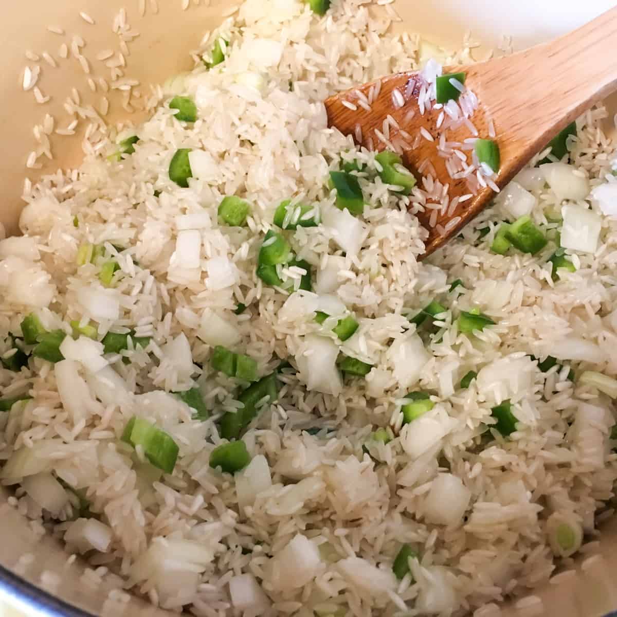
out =
{"type": "Polygon", "coordinates": [[[312,391],[338,396],[343,387],[341,374],[336,367],[339,347],[329,338],[309,334],[304,337],[296,364],[300,379],[312,391]]]}

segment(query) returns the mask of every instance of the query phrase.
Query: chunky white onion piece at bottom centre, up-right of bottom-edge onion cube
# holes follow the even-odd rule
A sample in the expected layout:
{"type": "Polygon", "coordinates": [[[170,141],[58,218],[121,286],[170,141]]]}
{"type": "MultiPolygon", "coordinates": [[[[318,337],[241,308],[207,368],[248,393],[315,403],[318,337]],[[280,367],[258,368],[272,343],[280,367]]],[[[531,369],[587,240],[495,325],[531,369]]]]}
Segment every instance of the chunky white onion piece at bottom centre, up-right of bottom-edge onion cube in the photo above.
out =
{"type": "Polygon", "coordinates": [[[304,587],[321,568],[317,545],[296,534],[283,550],[272,558],[272,578],[283,589],[304,587]]]}

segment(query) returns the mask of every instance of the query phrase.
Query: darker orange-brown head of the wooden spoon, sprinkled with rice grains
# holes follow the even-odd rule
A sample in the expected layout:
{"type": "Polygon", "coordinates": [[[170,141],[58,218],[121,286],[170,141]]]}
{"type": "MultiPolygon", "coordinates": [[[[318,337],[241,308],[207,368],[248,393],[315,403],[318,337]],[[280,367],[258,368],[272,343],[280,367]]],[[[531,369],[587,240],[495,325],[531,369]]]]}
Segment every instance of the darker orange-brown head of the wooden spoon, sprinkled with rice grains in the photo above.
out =
{"type": "MultiPolygon", "coordinates": [[[[465,72],[468,75],[466,84],[470,84],[470,68],[450,67],[444,69],[444,74],[465,72]]],[[[398,152],[405,166],[416,175],[421,188],[431,194],[424,211],[418,212],[421,225],[428,230],[425,257],[458,234],[489,203],[494,191],[486,184],[482,186],[476,172],[463,175],[462,159],[471,165],[473,157],[473,143],[465,140],[478,136],[489,138],[490,120],[482,107],[474,110],[468,122],[447,130],[447,141],[442,139],[445,143],[440,143],[439,126],[447,115],[443,109],[424,110],[421,114],[418,99],[423,87],[426,88],[426,82],[420,73],[397,73],[336,94],[326,99],[325,105],[330,126],[336,126],[345,135],[354,135],[355,141],[368,149],[398,152]],[[362,106],[363,99],[358,92],[369,101],[372,99],[370,110],[362,106]],[[357,106],[357,110],[350,109],[343,101],[357,106]],[[387,121],[388,129],[384,131],[384,120],[388,117],[394,122],[387,121]],[[388,132],[389,139],[386,139],[388,132]],[[360,137],[362,139],[358,140],[360,137]]],[[[516,173],[503,164],[505,153],[501,154],[502,167],[492,178],[499,187],[516,173]]]]}

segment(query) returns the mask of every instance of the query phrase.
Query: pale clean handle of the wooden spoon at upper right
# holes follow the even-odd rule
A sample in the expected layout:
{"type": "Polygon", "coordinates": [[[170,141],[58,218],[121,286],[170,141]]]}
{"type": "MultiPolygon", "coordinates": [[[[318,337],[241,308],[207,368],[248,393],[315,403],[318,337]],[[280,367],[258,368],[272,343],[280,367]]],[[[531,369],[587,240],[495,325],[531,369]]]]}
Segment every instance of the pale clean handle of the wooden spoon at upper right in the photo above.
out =
{"type": "Polygon", "coordinates": [[[529,158],[617,87],[616,49],[617,7],[551,43],[467,67],[478,72],[468,83],[529,158]]]}

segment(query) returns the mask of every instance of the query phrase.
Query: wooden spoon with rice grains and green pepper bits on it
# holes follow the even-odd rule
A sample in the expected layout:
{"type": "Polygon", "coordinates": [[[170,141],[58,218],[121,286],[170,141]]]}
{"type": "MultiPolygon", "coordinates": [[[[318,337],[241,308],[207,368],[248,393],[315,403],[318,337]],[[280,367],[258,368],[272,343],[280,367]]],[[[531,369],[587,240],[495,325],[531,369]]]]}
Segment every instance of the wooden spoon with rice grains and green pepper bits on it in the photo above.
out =
{"type": "MultiPolygon", "coordinates": [[[[479,137],[489,138],[492,132],[489,123],[494,124],[501,166],[492,179],[499,188],[503,188],[559,131],[617,88],[616,51],[617,7],[552,43],[487,62],[444,68],[444,74],[466,73],[465,86],[479,101],[470,117],[479,137]]],[[[411,170],[423,170],[416,175],[424,176],[432,165],[435,173],[432,170],[430,173],[434,179],[449,184],[450,204],[455,197],[466,200],[454,208],[448,207],[443,213],[440,211],[432,221],[434,225],[430,224],[433,210],[418,213],[421,224],[429,231],[426,256],[478,215],[492,199],[494,191],[489,186],[479,186],[472,197],[466,197],[470,195],[468,180],[450,177],[446,159],[437,154],[437,143],[425,137],[418,142],[416,136],[421,134],[421,129],[437,137],[441,114],[441,110],[420,114],[418,96],[423,83],[426,82],[420,73],[397,73],[336,94],[327,99],[325,105],[331,126],[346,135],[355,135],[356,141],[361,131],[360,143],[375,150],[388,149],[375,130],[383,135],[384,120],[390,115],[395,123],[389,122],[388,141],[402,154],[405,165],[411,170]],[[370,110],[366,110],[358,91],[370,99],[371,88],[373,100],[370,110]],[[394,93],[395,89],[400,96],[394,93]],[[347,107],[344,101],[357,110],[347,107]],[[401,102],[404,102],[402,106],[401,102]],[[404,132],[401,134],[401,131],[404,132]],[[416,147],[410,147],[413,145],[416,147]]],[[[449,142],[463,143],[469,138],[473,138],[473,134],[465,124],[447,133],[449,142]]],[[[469,142],[466,146],[471,147],[469,142]]],[[[470,150],[459,151],[459,158],[466,154],[471,164],[470,150]]]]}

